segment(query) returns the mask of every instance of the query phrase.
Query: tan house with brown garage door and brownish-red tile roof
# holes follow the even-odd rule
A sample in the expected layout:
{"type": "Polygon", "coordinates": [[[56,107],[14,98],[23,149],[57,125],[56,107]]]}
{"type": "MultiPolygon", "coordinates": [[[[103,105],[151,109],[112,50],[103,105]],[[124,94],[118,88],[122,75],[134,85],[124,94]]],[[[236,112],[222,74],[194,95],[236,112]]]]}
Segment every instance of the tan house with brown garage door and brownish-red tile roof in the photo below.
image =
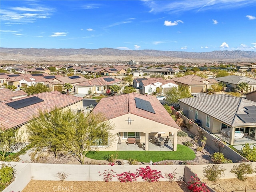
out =
{"type": "Polygon", "coordinates": [[[206,92],[212,85],[218,84],[215,79],[206,79],[196,75],[186,75],[183,77],[172,78],[178,85],[187,86],[190,93],[206,92]]]}

